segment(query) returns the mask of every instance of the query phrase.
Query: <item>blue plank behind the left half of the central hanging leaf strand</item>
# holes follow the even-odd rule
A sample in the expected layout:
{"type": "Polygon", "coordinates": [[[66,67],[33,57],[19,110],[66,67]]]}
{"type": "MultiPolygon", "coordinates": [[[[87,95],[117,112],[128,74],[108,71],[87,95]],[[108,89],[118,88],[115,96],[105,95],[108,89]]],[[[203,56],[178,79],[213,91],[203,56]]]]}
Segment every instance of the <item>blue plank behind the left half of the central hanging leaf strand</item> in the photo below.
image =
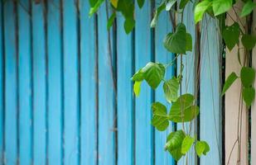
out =
{"type": "MultiPolygon", "coordinates": [[[[161,3],[160,0],[157,2],[157,7],[161,3]]],[[[169,18],[168,12],[162,12],[162,14],[158,17],[157,26],[155,28],[155,52],[156,52],[156,62],[160,62],[163,64],[171,63],[171,60],[174,58],[174,55],[168,52],[163,46],[163,40],[165,36],[171,32],[171,21],[169,18]]],[[[166,79],[170,79],[175,75],[174,72],[175,66],[170,66],[167,68],[166,72],[166,79]]],[[[162,89],[162,84],[156,90],[156,101],[160,101],[167,106],[167,109],[170,110],[171,105],[167,102],[166,98],[164,97],[164,92],[162,89]]],[[[167,142],[167,136],[174,130],[174,125],[170,123],[169,128],[164,131],[160,132],[156,130],[155,133],[155,149],[156,149],[156,156],[155,161],[156,164],[174,164],[174,159],[171,158],[171,154],[164,150],[164,146],[167,142]]]]}

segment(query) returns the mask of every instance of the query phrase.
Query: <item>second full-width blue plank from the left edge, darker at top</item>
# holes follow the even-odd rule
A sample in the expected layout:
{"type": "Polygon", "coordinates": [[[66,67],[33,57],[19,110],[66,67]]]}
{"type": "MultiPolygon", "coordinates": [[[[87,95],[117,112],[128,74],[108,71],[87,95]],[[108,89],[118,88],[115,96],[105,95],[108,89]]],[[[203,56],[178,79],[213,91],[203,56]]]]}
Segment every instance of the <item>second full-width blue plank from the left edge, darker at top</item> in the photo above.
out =
{"type": "Polygon", "coordinates": [[[32,103],[31,103],[31,10],[30,2],[18,4],[19,45],[19,148],[20,164],[31,164],[32,156],[32,103]]]}

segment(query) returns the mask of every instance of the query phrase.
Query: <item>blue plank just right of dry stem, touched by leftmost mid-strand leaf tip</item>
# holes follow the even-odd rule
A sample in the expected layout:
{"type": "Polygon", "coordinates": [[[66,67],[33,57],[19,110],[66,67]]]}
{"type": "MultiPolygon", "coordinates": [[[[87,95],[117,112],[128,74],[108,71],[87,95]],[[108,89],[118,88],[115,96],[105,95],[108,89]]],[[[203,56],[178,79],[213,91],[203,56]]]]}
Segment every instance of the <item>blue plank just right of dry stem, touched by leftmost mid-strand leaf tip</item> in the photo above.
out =
{"type": "Polygon", "coordinates": [[[123,16],[117,16],[118,53],[118,164],[134,163],[133,32],[123,29],[123,16]]]}

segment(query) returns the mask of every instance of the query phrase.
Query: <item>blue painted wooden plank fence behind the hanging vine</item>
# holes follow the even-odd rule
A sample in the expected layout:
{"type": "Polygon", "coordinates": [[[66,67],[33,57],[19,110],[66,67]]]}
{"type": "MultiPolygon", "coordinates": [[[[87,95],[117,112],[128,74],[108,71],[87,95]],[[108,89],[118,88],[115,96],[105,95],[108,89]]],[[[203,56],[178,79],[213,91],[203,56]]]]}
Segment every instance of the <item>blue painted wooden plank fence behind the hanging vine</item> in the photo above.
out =
{"type": "MultiPolygon", "coordinates": [[[[105,4],[89,18],[87,0],[0,2],[1,164],[175,164],[164,145],[167,134],[179,125],[164,132],[150,125],[152,101],[167,104],[161,87],[152,91],[142,84],[140,97],[135,98],[130,81],[147,62],[168,63],[174,58],[162,45],[172,31],[169,13],[162,13],[156,28],[150,28],[153,9],[160,2],[136,6],[136,26],[129,35],[120,15],[107,31],[111,10],[105,4]]],[[[185,13],[188,31],[196,38],[192,5],[185,13]]],[[[202,25],[212,31],[208,42],[203,43],[201,35],[203,46],[196,50],[193,40],[201,56],[194,52],[184,58],[183,88],[200,95],[200,120],[192,131],[213,150],[200,163],[222,164],[221,55],[215,52],[220,45],[209,47],[220,42],[218,32],[205,27],[208,21],[202,25]],[[199,64],[211,67],[196,73],[199,64]]],[[[173,75],[176,66],[167,70],[167,78],[173,75]]],[[[189,164],[197,163],[191,153],[189,164]]]]}

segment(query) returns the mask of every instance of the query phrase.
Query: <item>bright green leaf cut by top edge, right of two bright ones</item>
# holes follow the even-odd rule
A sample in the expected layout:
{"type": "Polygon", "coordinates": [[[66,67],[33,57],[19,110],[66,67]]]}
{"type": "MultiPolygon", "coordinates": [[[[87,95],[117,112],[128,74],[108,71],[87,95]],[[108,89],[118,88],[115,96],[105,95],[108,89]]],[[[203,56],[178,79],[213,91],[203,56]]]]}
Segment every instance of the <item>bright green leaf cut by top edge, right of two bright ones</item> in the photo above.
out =
{"type": "Polygon", "coordinates": [[[215,16],[218,16],[224,12],[228,12],[232,7],[233,0],[213,0],[212,7],[215,12],[215,16]]]}

